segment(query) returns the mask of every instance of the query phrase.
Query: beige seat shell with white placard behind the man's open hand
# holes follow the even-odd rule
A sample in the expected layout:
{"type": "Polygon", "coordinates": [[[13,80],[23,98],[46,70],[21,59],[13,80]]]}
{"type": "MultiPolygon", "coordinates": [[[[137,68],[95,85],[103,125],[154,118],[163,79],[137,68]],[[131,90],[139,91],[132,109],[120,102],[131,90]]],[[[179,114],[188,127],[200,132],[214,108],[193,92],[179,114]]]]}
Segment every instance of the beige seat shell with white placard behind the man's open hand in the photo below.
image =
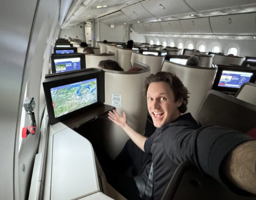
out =
{"type": "MultiPolygon", "coordinates": [[[[143,94],[143,83],[150,75],[149,68],[144,71],[105,71],[105,104],[112,105],[118,113],[126,113],[129,125],[143,134],[147,117],[147,102],[143,94]],[[112,96],[114,95],[114,96],[112,96]],[[114,100],[114,101],[112,101],[114,100]]],[[[108,143],[107,153],[115,158],[129,138],[127,134],[110,120],[104,127],[108,143]]]]}

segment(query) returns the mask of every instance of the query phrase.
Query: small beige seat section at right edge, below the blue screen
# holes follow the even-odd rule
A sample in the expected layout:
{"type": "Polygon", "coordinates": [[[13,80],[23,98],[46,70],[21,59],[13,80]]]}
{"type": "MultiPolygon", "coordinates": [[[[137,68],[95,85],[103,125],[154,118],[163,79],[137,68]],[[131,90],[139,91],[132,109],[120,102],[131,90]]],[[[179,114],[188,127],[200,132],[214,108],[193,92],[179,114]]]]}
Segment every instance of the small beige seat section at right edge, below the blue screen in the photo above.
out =
{"type": "Polygon", "coordinates": [[[256,105],[256,84],[250,82],[243,83],[236,92],[235,97],[256,105]]]}

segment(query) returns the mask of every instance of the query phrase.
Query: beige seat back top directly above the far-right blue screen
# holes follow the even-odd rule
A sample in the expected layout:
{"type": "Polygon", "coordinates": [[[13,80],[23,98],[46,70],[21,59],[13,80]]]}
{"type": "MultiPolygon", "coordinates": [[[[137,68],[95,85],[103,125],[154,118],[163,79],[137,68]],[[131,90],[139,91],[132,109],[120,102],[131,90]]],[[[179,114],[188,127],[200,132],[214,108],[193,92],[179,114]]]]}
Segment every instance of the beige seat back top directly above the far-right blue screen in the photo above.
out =
{"type": "Polygon", "coordinates": [[[225,56],[225,55],[215,55],[213,57],[212,62],[215,65],[241,65],[245,57],[238,57],[238,56],[225,56]]]}

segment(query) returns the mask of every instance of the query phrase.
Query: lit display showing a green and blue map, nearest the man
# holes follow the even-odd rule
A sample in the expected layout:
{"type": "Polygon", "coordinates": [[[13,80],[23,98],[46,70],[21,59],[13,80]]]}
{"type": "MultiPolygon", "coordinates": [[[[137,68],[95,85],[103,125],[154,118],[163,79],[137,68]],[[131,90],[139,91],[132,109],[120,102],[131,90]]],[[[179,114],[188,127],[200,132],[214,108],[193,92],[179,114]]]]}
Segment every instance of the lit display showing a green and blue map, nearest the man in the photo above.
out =
{"type": "Polygon", "coordinates": [[[97,78],[51,88],[55,118],[97,102],[97,78]]]}

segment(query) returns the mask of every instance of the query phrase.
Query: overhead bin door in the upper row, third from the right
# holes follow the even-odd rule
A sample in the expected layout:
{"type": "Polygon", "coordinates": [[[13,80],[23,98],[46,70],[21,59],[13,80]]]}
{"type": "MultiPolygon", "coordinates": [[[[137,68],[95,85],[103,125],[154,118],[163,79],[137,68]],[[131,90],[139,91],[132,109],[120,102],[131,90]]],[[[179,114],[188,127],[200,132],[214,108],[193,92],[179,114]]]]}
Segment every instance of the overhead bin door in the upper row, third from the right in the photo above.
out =
{"type": "Polygon", "coordinates": [[[146,11],[140,3],[125,7],[122,9],[122,11],[132,20],[144,20],[154,18],[154,16],[146,11]]]}

